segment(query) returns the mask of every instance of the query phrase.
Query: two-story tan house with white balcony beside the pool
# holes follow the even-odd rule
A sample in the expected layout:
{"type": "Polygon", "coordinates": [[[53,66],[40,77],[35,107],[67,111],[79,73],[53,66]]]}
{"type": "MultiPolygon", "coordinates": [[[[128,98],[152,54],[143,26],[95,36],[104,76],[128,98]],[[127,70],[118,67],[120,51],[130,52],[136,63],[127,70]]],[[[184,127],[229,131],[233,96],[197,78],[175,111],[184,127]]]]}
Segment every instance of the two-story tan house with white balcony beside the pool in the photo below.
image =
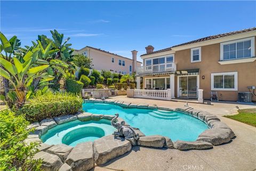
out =
{"type": "Polygon", "coordinates": [[[137,83],[142,77],[143,89],[170,88],[172,98],[196,98],[198,89],[203,89],[204,99],[215,91],[219,100],[237,101],[238,92],[256,86],[255,36],[256,28],[250,28],[155,52],[149,45],[147,54],[141,55],[143,67],[137,69],[137,83]]]}

